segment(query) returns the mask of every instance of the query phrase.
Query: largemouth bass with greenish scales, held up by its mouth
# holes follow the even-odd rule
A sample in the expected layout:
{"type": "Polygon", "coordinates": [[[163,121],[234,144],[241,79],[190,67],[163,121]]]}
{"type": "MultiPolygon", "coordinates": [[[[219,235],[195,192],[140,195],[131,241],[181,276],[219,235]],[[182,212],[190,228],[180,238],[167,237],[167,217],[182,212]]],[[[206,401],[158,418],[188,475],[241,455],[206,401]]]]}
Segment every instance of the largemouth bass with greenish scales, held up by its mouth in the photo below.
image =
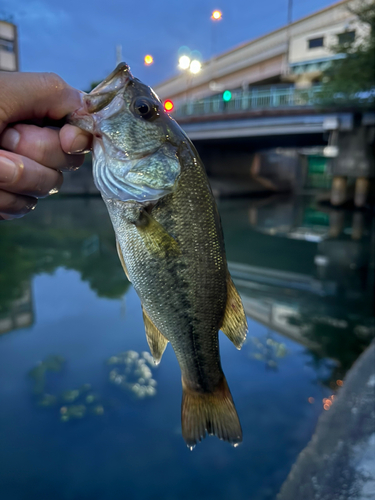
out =
{"type": "Polygon", "coordinates": [[[177,357],[187,446],[207,433],[238,445],[242,429],[221,367],[219,330],[240,349],[247,320],[194,145],[126,63],[84,94],[68,122],[93,135],[94,181],[140,298],[155,363],[168,342],[177,357]]]}

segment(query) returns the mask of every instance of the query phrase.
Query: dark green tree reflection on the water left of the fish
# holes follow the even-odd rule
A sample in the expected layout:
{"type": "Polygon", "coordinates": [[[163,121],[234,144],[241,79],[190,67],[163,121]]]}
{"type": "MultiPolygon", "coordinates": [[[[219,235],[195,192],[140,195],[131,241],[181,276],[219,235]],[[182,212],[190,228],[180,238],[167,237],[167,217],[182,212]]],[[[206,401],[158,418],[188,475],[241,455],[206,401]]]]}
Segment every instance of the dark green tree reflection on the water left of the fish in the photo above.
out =
{"type": "Polygon", "coordinates": [[[119,272],[113,231],[99,199],[46,205],[26,223],[1,227],[0,333],[32,323],[29,287],[37,274],[75,269],[99,297],[121,297],[129,286],[119,272]],[[12,322],[4,322],[5,317],[12,322]]]}

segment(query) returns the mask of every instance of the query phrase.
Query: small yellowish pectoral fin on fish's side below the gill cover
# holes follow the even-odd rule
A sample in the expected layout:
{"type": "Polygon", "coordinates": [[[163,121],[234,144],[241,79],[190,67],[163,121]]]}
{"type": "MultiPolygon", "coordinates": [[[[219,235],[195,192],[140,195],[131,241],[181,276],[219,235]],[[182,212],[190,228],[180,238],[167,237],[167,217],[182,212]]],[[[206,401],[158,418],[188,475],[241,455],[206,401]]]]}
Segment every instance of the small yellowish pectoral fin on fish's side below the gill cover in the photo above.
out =
{"type": "Polygon", "coordinates": [[[136,226],[150,253],[160,258],[181,253],[177,241],[152,215],[143,212],[136,226]]]}

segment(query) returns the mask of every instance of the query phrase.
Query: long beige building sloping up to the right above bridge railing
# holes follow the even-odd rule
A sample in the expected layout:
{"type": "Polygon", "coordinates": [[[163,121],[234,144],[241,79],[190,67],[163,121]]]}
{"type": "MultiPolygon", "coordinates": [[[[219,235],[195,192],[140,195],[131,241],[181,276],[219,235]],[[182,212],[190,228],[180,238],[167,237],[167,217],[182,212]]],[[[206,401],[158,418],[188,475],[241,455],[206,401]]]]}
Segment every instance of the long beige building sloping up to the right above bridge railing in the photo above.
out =
{"type": "Polygon", "coordinates": [[[186,71],[155,86],[161,99],[178,106],[236,90],[265,85],[311,86],[320,80],[330,61],[340,55],[332,46],[354,37],[365,27],[350,12],[350,0],[341,0],[310,16],[243,43],[203,64],[196,75],[186,71]]]}

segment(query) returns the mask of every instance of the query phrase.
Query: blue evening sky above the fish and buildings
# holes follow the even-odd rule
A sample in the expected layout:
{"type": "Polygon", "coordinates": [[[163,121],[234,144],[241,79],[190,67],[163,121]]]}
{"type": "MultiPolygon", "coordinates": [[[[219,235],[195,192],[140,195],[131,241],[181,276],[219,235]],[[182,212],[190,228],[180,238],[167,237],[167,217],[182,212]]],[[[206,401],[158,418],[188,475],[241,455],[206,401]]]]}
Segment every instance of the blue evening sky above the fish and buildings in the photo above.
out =
{"type": "MultiPolygon", "coordinates": [[[[293,0],[293,20],[332,4],[293,0]]],[[[287,21],[288,0],[2,0],[0,18],[19,30],[20,69],[53,71],[86,90],[116,64],[116,46],[133,74],[155,85],[178,73],[178,50],[202,60],[257,38],[287,21]],[[211,12],[223,19],[214,23],[211,12]],[[146,54],[154,64],[146,67],[146,54]]]]}

